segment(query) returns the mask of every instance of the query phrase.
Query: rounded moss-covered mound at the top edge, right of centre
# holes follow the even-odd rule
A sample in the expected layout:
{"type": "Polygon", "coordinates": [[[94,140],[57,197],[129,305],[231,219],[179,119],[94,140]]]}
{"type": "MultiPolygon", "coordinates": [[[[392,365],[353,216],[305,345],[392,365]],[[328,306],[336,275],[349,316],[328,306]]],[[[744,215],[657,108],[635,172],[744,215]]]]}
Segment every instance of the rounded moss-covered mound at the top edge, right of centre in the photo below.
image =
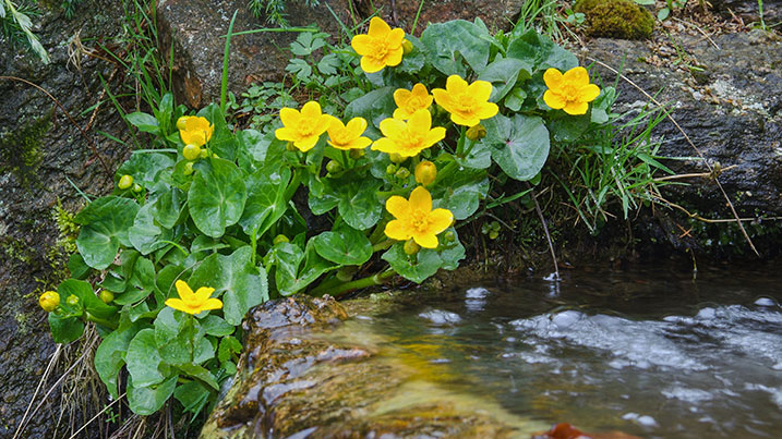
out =
{"type": "Polygon", "coordinates": [[[585,15],[592,37],[646,39],[654,28],[652,14],[631,0],[580,0],[575,12],[585,15]]]}

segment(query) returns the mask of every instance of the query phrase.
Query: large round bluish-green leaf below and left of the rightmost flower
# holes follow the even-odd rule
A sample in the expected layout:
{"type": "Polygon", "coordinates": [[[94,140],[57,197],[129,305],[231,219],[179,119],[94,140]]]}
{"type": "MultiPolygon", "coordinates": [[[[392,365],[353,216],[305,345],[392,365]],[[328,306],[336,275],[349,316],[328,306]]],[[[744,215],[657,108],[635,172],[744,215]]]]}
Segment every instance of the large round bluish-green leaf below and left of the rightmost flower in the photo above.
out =
{"type": "Polygon", "coordinates": [[[484,141],[492,158],[512,179],[527,181],[540,172],[549,158],[549,130],[537,117],[497,115],[485,122],[484,141]]]}

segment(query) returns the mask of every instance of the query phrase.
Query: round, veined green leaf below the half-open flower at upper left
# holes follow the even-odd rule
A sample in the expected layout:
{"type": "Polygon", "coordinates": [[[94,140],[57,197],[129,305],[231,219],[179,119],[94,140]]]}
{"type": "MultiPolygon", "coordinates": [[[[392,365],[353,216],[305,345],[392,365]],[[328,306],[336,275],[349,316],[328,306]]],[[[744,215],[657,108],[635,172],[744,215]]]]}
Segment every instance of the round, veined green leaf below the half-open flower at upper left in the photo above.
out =
{"type": "Polygon", "coordinates": [[[188,193],[190,216],[204,234],[220,237],[244,210],[246,188],[241,171],[228,160],[202,160],[188,193]]]}

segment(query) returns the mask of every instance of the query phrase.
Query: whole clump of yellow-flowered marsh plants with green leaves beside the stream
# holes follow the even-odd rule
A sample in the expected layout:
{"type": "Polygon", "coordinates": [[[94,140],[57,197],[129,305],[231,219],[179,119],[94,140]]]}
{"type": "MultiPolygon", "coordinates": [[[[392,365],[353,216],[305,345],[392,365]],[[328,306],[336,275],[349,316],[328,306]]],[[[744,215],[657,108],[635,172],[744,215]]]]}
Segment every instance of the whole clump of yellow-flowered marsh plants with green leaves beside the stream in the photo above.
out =
{"type": "Polygon", "coordinates": [[[294,45],[311,98],[258,126],[232,129],[226,101],[192,114],[168,94],[128,114],[148,147],[75,216],[72,279],[39,298],[58,343],[98,327],[95,367],[137,414],[171,397],[208,410],[255,305],[455,269],[459,223],[492,186],[534,183],[552,139],[615,119],[613,88],[534,31],[457,20],[419,39],[374,17],[350,47],[312,33],[294,45]]]}

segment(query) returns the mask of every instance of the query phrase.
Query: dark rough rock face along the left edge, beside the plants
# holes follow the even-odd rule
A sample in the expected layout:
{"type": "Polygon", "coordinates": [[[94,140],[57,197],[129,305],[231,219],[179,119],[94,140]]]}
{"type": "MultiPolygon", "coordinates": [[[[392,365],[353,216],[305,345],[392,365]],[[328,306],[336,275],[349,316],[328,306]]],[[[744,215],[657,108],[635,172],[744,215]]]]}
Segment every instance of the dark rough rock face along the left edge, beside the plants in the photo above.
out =
{"type": "MultiPolygon", "coordinates": [[[[121,33],[118,17],[123,14],[122,3],[85,0],[72,19],[64,16],[60,2],[39,4],[43,15],[33,20],[35,33],[49,51],[51,63],[44,65],[25,50],[9,50],[0,39],[0,75],[27,80],[59,99],[113,168],[127,149],[97,131],[127,138],[127,129],[101,94],[99,75],[117,83],[122,72],[115,63],[96,57],[79,52],[71,57],[69,41],[81,35],[87,49],[96,48],[98,41],[110,44],[107,36],[121,33]],[[98,110],[92,110],[99,100],[98,110]]],[[[96,54],[106,58],[99,49],[96,54]]],[[[94,159],[80,131],[43,92],[2,78],[0,96],[0,437],[10,438],[55,351],[46,313],[38,307],[35,293],[56,288],[63,276],[65,252],[57,245],[52,209],[58,199],[69,211],[84,204],[69,179],[91,196],[110,190],[112,180],[94,159]]],[[[48,389],[61,371],[55,369],[43,389],[48,389]]],[[[48,401],[59,404],[59,398],[58,388],[48,401]]],[[[21,437],[64,435],[63,429],[71,425],[61,423],[56,432],[60,407],[52,405],[44,404],[21,437]]],[[[63,408],[63,419],[69,419],[70,408],[63,408]]],[[[85,412],[74,414],[75,423],[86,420],[87,407],[83,408],[85,412]]]]}

